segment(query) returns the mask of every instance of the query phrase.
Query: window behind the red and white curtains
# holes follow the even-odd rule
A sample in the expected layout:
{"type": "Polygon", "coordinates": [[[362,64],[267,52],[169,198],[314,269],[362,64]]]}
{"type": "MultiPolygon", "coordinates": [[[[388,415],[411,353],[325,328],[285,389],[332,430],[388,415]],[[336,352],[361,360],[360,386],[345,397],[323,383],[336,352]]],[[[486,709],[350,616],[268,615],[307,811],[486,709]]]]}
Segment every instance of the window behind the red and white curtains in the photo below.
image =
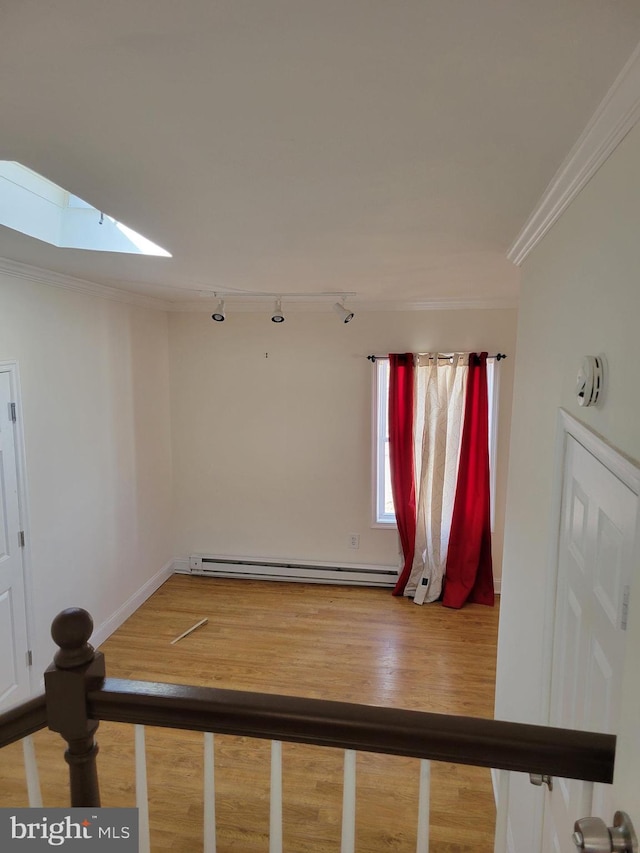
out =
{"type": "MultiPolygon", "coordinates": [[[[495,520],[495,465],[498,432],[498,372],[495,361],[487,362],[489,398],[489,468],[491,477],[491,530],[495,520]]],[[[373,526],[395,527],[396,515],[391,491],[389,464],[389,360],[379,358],[374,371],[373,417],[373,526]]]]}

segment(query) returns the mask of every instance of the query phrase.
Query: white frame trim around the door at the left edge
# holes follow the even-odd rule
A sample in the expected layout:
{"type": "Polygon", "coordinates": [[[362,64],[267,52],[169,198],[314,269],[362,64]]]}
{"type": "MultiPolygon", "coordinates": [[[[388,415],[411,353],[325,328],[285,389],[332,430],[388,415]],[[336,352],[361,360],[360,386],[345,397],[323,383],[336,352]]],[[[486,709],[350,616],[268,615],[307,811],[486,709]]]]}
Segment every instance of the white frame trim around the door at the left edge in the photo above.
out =
{"type": "MultiPolygon", "coordinates": [[[[15,454],[16,454],[16,476],[18,483],[18,513],[20,526],[24,530],[24,548],[22,548],[22,573],[24,578],[24,598],[27,620],[27,639],[29,648],[33,649],[33,640],[36,636],[33,615],[33,573],[31,559],[31,537],[29,535],[29,498],[27,494],[27,461],[25,453],[23,416],[22,416],[22,394],[20,389],[20,373],[18,362],[15,359],[0,361],[0,373],[9,374],[9,386],[11,397],[16,404],[16,421],[14,427],[15,454]]],[[[35,666],[29,667],[29,690],[33,696],[41,687],[41,678],[35,674],[35,666]]]]}

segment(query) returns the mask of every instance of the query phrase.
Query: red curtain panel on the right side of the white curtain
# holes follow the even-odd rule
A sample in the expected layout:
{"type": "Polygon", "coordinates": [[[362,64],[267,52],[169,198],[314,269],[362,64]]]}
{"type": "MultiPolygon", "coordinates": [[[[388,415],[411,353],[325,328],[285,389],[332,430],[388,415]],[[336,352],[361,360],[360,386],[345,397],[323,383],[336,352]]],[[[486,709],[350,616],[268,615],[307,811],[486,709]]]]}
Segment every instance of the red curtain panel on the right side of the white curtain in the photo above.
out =
{"type": "Polygon", "coordinates": [[[469,355],[462,445],[444,580],[445,607],[493,606],[487,353],[469,355]]]}

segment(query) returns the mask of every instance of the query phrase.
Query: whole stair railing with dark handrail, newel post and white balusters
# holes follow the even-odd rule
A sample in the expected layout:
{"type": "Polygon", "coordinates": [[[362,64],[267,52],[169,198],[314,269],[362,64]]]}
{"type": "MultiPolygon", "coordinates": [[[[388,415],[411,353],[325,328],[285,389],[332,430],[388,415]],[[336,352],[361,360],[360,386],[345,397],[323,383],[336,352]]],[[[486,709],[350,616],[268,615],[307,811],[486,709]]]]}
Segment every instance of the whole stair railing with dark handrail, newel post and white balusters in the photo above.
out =
{"type": "Polygon", "coordinates": [[[204,733],[205,853],[215,853],[213,733],[270,740],[270,853],[282,851],[282,742],[338,747],[345,751],[341,853],[355,849],[357,752],[420,759],[417,853],[429,847],[430,761],[497,769],[496,853],[506,850],[509,774],[610,783],[614,735],[532,726],[500,720],[432,714],[105,677],[104,657],[89,644],[93,621],[70,608],[53,622],[59,649],[45,673],[45,696],[0,714],[0,747],[48,726],[67,742],[71,806],[100,806],[95,733],[101,720],[136,726],[136,790],[140,850],[149,848],[144,726],[204,733]],[[45,698],[46,697],[46,698],[45,698]]]}

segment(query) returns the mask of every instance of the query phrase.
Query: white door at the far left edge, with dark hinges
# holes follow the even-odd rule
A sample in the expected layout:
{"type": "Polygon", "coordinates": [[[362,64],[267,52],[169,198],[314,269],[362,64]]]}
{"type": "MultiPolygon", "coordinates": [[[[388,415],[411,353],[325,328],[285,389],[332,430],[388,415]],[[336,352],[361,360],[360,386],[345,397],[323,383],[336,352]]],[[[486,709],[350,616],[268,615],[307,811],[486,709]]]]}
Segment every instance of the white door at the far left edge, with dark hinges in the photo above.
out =
{"type": "Polygon", "coordinates": [[[0,708],[30,695],[11,374],[0,372],[0,708]]]}

